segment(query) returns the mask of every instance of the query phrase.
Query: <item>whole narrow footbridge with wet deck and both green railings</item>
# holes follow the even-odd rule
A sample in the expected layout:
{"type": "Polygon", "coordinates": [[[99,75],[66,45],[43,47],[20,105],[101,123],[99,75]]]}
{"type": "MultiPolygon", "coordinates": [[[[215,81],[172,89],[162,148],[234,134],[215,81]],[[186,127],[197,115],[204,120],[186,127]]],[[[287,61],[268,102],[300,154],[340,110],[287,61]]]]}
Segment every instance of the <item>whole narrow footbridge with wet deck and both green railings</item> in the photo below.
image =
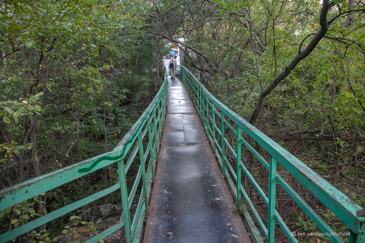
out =
{"type": "Polygon", "coordinates": [[[0,243],[76,215],[77,209],[113,192],[120,193],[120,220],[85,242],[103,242],[121,229],[127,243],[300,242],[303,238],[288,221],[293,205],[331,242],[365,242],[364,209],[219,102],[187,68],[177,66],[177,76],[170,79],[165,71],[157,95],[113,151],[0,191],[0,212],[9,213],[70,181],[112,164],[118,167],[119,177],[110,187],[9,227],[0,243]],[[264,170],[251,174],[247,163],[253,159],[264,170]],[[139,170],[128,184],[131,165],[139,170]],[[264,183],[255,180],[257,173],[267,174],[264,183]],[[347,234],[331,228],[289,180],[333,212],[347,234]],[[281,203],[284,198],[290,203],[281,203]],[[290,213],[283,218],[285,208],[290,213]]]}

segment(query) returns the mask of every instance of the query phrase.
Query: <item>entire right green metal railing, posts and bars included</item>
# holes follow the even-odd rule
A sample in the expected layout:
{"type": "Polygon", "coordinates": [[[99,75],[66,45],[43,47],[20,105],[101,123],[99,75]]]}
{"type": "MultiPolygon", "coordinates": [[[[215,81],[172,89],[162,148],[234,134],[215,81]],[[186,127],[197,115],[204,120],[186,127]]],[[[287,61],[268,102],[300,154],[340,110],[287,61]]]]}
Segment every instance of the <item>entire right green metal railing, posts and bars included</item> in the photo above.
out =
{"type": "MultiPolygon", "coordinates": [[[[275,224],[280,226],[290,242],[298,242],[295,237],[296,232],[293,233],[289,230],[275,207],[277,202],[276,187],[278,185],[288,193],[291,199],[293,199],[304,213],[313,220],[319,230],[321,230],[331,242],[344,242],[338,234],[335,234],[335,231],[324,222],[315,210],[289,186],[283,177],[277,173],[276,168],[279,166],[285,168],[287,172],[295,177],[301,185],[307,188],[328,209],[335,213],[335,215],[349,228],[350,235],[348,242],[365,242],[365,217],[361,214],[361,216],[357,216],[357,212],[361,212],[362,210],[360,205],[356,204],[287,150],[223,105],[205,89],[204,85],[197,81],[187,68],[177,66],[176,71],[177,76],[184,82],[195,108],[203,121],[203,126],[211,141],[214,154],[220,164],[223,176],[227,177],[237,200],[242,198],[251,212],[249,213],[246,210],[244,216],[248,227],[250,228],[251,235],[256,242],[263,242],[263,240],[255,223],[261,228],[263,236],[265,236],[269,243],[274,242],[275,224]],[[225,130],[226,128],[227,130],[225,130]],[[225,136],[228,131],[231,131],[235,136],[235,141],[233,143],[231,142],[231,144],[228,142],[230,138],[225,136]],[[242,131],[245,134],[242,134],[242,131]],[[217,138],[217,136],[220,136],[220,138],[217,138]],[[242,136],[247,137],[248,141],[255,141],[262,149],[266,150],[269,154],[267,158],[269,162],[266,161],[266,159],[242,136]],[[264,189],[255,181],[254,175],[250,174],[245,166],[246,163],[243,164],[241,154],[244,151],[241,149],[241,145],[244,146],[245,151],[249,151],[251,156],[255,156],[261,165],[269,171],[269,187],[268,190],[266,190],[267,193],[265,193],[264,189]],[[229,161],[232,160],[234,163],[231,164],[229,161]],[[241,184],[242,172],[243,176],[250,181],[253,188],[257,191],[255,194],[259,194],[261,200],[264,201],[268,207],[267,226],[262,221],[253,202],[250,200],[249,195],[241,184]],[[253,216],[254,220],[251,216],[253,216]]],[[[243,161],[245,162],[245,160],[243,161]]]]}

